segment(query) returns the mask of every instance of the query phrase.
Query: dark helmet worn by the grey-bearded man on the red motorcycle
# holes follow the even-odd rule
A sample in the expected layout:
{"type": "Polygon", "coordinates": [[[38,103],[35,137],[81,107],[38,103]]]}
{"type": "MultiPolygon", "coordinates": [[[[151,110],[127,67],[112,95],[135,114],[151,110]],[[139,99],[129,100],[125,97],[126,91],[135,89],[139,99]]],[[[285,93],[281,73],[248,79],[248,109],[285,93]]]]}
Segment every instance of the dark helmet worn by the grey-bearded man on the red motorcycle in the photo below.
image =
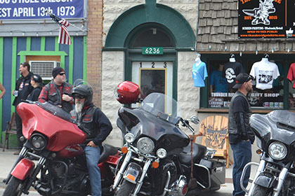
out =
{"type": "Polygon", "coordinates": [[[78,79],[74,82],[74,87],[72,88],[72,96],[79,94],[85,97],[84,106],[89,106],[92,103],[93,91],[91,85],[84,80],[78,79]]]}

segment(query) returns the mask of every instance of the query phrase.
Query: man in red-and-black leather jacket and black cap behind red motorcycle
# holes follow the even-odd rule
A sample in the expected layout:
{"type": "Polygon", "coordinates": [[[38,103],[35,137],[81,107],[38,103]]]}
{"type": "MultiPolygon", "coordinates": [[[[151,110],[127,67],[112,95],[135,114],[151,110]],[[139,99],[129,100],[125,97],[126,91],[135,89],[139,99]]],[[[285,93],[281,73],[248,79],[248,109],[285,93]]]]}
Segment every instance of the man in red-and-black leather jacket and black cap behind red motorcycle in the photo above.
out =
{"type": "Polygon", "coordinates": [[[65,81],[65,70],[61,67],[55,67],[52,76],[53,80],[42,88],[38,101],[60,106],[64,111],[70,113],[74,102],[73,98],[70,97],[72,85],[65,81]]]}

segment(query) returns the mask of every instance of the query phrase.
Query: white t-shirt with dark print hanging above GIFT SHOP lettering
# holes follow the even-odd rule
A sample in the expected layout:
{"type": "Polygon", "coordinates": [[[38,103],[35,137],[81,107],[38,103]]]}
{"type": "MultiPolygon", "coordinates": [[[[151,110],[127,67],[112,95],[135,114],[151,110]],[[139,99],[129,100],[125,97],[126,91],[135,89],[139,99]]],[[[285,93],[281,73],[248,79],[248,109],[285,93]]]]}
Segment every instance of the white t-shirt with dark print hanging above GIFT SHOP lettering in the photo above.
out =
{"type": "Polygon", "coordinates": [[[273,80],[280,76],[277,64],[263,59],[253,64],[250,75],[256,79],[256,88],[265,90],[273,87],[273,80]]]}

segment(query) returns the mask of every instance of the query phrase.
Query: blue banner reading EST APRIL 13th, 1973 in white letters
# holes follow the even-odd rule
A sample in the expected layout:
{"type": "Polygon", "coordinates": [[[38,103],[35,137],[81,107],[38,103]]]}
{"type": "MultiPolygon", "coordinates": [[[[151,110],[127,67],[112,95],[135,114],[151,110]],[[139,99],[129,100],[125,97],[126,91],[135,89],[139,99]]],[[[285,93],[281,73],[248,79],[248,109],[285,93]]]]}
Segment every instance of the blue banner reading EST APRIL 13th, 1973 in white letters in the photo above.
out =
{"type": "Polygon", "coordinates": [[[83,18],[83,0],[0,0],[0,20],[49,19],[48,10],[60,18],[83,18]]]}

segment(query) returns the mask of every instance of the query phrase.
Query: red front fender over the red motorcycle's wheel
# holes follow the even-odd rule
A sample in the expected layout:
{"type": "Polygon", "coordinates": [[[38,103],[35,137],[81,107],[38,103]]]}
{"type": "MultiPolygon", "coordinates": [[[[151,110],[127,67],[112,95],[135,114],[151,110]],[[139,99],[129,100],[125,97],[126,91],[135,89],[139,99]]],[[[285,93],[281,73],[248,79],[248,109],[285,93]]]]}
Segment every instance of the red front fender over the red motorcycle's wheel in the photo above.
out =
{"type": "Polygon", "coordinates": [[[32,174],[34,167],[35,164],[34,162],[32,162],[32,160],[23,158],[22,160],[20,160],[20,162],[18,162],[17,165],[15,165],[13,171],[11,172],[11,175],[23,181],[25,178],[27,178],[27,176],[32,174]]]}

